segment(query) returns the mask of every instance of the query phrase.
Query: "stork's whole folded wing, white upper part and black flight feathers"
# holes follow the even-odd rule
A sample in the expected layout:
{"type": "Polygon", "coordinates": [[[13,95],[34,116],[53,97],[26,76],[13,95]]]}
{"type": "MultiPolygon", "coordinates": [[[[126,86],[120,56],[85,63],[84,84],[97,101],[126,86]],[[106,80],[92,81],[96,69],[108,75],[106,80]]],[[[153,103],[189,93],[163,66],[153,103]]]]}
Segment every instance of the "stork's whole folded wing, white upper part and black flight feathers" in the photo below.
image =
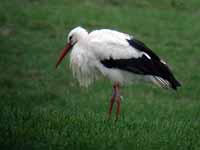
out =
{"type": "Polygon", "coordinates": [[[110,34],[105,36],[104,33],[96,40],[96,44],[99,43],[100,47],[94,48],[94,51],[105,67],[161,77],[167,80],[174,89],[180,86],[166,63],[144,43],[126,34],[117,33],[112,36],[110,34]]]}

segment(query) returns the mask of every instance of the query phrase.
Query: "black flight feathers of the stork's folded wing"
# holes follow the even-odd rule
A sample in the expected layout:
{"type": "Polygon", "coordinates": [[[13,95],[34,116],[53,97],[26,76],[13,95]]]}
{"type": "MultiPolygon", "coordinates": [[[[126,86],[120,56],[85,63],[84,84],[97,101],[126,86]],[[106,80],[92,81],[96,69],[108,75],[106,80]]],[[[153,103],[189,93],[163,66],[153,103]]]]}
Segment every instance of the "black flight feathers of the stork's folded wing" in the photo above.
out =
{"type": "Polygon", "coordinates": [[[175,79],[169,67],[162,63],[160,58],[144,43],[135,39],[127,41],[137,50],[147,53],[151,59],[147,58],[146,55],[142,55],[142,57],[139,58],[129,59],[113,59],[110,57],[109,59],[101,60],[101,63],[107,68],[117,68],[136,74],[161,77],[169,81],[173,89],[176,89],[177,86],[180,86],[180,83],[175,79]]]}

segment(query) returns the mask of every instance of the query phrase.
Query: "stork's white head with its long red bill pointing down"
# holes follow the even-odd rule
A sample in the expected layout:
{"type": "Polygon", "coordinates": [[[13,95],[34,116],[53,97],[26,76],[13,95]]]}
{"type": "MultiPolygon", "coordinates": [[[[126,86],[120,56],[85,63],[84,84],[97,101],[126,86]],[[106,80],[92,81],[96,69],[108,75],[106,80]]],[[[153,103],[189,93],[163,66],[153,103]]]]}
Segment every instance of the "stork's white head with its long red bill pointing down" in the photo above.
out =
{"type": "Polygon", "coordinates": [[[61,52],[60,58],[58,59],[56,63],[56,68],[61,63],[63,58],[66,56],[66,54],[70,51],[70,49],[72,49],[72,47],[77,42],[85,39],[87,35],[88,35],[88,32],[82,27],[76,27],[69,32],[67,36],[67,44],[61,52]]]}

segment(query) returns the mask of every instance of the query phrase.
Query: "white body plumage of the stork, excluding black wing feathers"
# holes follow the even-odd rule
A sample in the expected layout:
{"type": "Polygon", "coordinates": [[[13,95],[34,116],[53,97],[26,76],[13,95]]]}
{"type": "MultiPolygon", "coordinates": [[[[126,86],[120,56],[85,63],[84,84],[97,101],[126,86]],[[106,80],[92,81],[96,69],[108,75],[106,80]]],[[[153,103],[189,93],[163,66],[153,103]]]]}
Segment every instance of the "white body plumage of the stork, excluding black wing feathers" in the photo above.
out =
{"type": "MultiPolygon", "coordinates": [[[[73,34],[77,30],[82,30],[82,28],[75,28],[71,33],[73,34]]],[[[95,30],[90,34],[87,33],[87,35],[86,33],[83,34],[80,41],[74,45],[70,55],[70,66],[80,85],[87,87],[94,79],[98,79],[99,72],[113,82],[120,82],[121,84],[137,82],[137,80],[141,81],[142,79],[150,81],[152,78],[149,75],[141,76],[116,68],[106,68],[100,63],[100,60],[110,57],[128,59],[138,58],[145,54],[150,58],[148,54],[131,47],[126,41],[130,38],[131,36],[128,34],[108,29],[95,30]]]]}

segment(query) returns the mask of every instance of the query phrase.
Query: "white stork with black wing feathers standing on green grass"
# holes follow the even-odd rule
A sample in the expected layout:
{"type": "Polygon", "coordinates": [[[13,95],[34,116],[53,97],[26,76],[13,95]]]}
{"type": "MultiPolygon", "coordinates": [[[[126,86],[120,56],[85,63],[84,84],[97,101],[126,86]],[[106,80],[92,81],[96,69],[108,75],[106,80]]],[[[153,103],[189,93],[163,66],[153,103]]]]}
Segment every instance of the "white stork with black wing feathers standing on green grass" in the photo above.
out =
{"type": "Polygon", "coordinates": [[[121,111],[121,87],[141,82],[177,90],[181,83],[167,63],[132,35],[111,29],[88,32],[81,26],[72,29],[56,63],[70,53],[70,67],[80,86],[88,87],[105,76],[112,83],[109,117],[116,103],[116,120],[121,111]]]}

